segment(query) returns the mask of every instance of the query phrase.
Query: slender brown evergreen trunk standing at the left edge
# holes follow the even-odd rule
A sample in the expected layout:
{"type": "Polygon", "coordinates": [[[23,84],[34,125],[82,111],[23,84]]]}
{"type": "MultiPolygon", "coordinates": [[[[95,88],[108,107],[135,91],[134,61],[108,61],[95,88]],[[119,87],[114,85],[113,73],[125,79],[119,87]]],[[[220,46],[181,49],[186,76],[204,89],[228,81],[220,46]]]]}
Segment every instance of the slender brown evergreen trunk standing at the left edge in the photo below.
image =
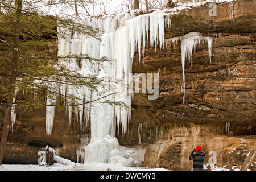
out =
{"type": "Polygon", "coordinates": [[[9,126],[11,123],[11,107],[13,106],[13,97],[15,92],[15,82],[17,77],[17,63],[18,63],[18,43],[19,43],[19,33],[18,33],[18,27],[19,27],[19,14],[21,14],[22,11],[22,0],[16,0],[15,2],[16,7],[16,22],[15,22],[15,35],[13,40],[13,58],[11,63],[11,76],[9,78],[9,94],[10,96],[7,99],[7,106],[5,111],[5,117],[3,118],[3,131],[1,136],[1,142],[0,142],[0,165],[2,164],[3,160],[3,154],[5,152],[7,137],[8,137],[8,131],[9,126]]]}

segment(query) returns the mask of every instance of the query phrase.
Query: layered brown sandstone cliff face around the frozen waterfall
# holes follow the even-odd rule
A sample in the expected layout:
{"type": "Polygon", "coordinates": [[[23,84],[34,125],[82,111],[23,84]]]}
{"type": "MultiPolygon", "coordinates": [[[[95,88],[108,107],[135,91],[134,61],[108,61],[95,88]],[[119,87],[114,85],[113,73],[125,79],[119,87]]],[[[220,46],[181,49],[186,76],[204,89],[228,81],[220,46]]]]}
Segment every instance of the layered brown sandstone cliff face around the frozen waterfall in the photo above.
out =
{"type": "MultiPolygon", "coordinates": [[[[116,137],[122,146],[145,151],[142,166],[191,170],[189,155],[201,145],[205,164],[239,168],[244,154],[256,147],[255,1],[218,3],[216,16],[209,15],[212,7],[208,3],[172,15],[164,48],[146,49],[141,60],[135,55],[133,73],[159,73],[159,96],[148,100],[148,94],[134,94],[129,131],[123,136],[117,131],[116,137]],[[192,66],[186,62],[183,103],[181,45],[172,38],[188,32],[213,38],[212,64],[208,43],[202,41],[192,66]]],[[[19,108],[17,113],[3,163],[37,163],[37,153],[45,144],[59,148],[60,156],[76,162],[77,147],[88,143],[81,138],[89,137],[90,129],[84,127],[80,133],[79,123],[69,125],[63,110],[56,111],[50,137],[46,135],[45,108],[19,108]]],[[[255,163],[249,169],[255,170],[255,163]]]]}

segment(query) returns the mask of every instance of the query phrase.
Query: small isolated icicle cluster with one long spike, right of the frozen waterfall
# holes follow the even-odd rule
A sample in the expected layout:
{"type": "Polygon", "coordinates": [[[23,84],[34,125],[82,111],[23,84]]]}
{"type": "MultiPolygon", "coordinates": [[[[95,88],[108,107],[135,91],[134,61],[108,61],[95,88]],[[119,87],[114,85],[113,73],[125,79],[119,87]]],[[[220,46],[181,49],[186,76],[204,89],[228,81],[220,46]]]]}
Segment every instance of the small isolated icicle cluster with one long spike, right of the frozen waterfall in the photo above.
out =
{"type": "Polygon", "coordinates": [[[172,42],[180,39],[180,49],[181,49],[181,64],[182,64],[182,74],[183,74],[183,87],[181,92],[183,92],[183,103],[185,102],[185,61],[189,60],[189,63],[193,64],[193,53],[199,52],[201,40],[206,40],[208,42],[208,52],[210,64],[212,64],[212,38],[203,37],[199,32],[189,32],[181,37],[171,38],[172,42]]]}

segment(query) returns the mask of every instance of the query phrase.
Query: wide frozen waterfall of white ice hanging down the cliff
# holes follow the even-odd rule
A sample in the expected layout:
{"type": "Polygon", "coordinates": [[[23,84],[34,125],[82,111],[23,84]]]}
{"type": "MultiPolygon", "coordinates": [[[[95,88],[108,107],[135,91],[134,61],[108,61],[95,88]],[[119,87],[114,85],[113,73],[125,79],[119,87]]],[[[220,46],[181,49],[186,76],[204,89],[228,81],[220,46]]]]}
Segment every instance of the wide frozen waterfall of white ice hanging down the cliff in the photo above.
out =
{"type": "MultiPolygon", "coordinates": [[[[108,61],[98,64],[97,61],[88,59],[82,59],[81,63],[77,63],[76,59],[59,59],[61,64],[72,71],[83,76],[93,75],[102,80],[97,85],[98,92],[90,90],[85,85],[59,85],[61,94],[80,98],[77,102],[81,105],[73,114],[72,107],[67,107],[69,122],[72,121],[72,115],[75,115],[73,120],[79,121],[80,125],[90,119],[90,142],[77,150],[77,156],[85,163],[123,163],[125,166],[131,166],[131,160],[123,157],[118,140],[115,138],[115,126],[118,126],[118,132],[122,135],[129,129],[131,110],[105,102],[123,102],[127,107],[131,107],[133,77],[130,73],[134,54],[138,49],[141,56],[142,49],[143,56],[149,44],[154,50],[158,46],[163,48],[164,26],[170,26],[170,18],[167,13],[155,11],[137,17],[134,14],[119,14],[85,18],[84,23],[99,28],[101,41],[92,36],[65,30],[69,36],[59,37],[58,55],[87,54],[96,59],[105,57],[108,61]],[[112,81],[117,83],[113,84],[112,81]],[[83,100],[85,107],[82,105],[83,100]]],[[[52,100],[49,99],[47,102],[52,100]]],[[[66,102],[68,105],[73,103],[72,100],[66,102]]],[[[54,107],[47,107],[47,112],[51,113],[47,117],[47,132],[51,134],[54,107]]]]}

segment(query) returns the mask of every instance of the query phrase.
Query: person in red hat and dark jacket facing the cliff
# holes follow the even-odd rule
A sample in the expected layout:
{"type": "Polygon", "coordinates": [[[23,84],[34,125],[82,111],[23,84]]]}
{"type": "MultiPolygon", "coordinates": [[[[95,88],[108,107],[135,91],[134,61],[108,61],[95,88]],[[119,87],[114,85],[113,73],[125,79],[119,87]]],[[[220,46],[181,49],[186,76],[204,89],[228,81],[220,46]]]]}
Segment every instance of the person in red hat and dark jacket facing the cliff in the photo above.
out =
{"type": "Polygon", "coordinates": [[[204,171],[205,154],[202,152],[202,146],[197,146],[189,156],[189,160],[193,160],[193,171],[204,171]]]}

